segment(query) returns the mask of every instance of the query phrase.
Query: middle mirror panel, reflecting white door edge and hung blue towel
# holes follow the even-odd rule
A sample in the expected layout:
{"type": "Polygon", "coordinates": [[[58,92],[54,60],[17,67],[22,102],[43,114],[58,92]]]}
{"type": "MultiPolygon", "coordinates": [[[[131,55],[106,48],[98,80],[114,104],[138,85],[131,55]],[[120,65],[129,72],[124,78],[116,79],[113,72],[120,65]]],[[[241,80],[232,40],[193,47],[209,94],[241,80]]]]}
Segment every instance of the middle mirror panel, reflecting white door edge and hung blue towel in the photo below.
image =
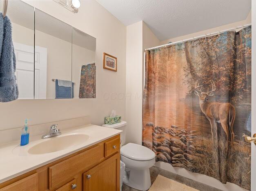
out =
{"type": "Polygon", "coordinates": [[[73,98],[72,27],[35,9],[35,99],[73,98]]]}

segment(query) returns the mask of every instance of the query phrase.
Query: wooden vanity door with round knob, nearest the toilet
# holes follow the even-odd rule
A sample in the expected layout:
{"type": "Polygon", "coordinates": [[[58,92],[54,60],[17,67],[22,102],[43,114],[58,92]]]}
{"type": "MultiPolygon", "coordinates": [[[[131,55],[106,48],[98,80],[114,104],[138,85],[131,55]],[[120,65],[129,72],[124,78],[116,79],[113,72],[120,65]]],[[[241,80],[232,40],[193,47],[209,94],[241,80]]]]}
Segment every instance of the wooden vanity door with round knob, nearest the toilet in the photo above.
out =
{"type": "Polygon", "coordinates": [[[83,174],[83,191],[119,191],[120,153],[83,174]]]}

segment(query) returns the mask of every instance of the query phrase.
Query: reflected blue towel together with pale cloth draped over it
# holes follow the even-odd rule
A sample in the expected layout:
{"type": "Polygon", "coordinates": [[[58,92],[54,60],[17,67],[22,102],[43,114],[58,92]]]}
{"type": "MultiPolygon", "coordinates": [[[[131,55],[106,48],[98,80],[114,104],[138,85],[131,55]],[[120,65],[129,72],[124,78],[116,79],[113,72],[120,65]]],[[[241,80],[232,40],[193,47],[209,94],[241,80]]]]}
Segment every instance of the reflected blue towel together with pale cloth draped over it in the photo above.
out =
{"type": "Polygon", "coordinates": [[[74,98],[74,83],[67,80],[55,81],[55,99],[74,98]]]}

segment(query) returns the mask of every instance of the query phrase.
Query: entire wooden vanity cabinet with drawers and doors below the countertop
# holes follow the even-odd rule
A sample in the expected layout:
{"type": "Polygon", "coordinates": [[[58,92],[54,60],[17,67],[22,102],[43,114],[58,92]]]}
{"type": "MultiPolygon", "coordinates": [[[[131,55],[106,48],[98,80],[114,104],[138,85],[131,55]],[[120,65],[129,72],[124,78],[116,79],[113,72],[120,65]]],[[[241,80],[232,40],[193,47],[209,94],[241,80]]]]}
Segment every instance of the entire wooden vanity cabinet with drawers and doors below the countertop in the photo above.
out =
{"type": "Polygon", "coordinates": [[[119,143],[116,135],[3,182],[0,191],[119,191],[119,143]]]}

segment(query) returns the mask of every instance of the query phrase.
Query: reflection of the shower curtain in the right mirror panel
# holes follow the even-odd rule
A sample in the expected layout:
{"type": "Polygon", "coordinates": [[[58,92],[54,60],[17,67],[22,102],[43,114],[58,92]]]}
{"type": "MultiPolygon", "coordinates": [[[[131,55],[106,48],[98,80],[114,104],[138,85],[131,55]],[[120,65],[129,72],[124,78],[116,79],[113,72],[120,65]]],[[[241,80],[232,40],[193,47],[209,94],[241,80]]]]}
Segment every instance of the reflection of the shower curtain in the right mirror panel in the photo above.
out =
{"type": "Polygon", "coordinates": [[[95,63],[82,65],[79,98],[96,98],[95,63]]]}

